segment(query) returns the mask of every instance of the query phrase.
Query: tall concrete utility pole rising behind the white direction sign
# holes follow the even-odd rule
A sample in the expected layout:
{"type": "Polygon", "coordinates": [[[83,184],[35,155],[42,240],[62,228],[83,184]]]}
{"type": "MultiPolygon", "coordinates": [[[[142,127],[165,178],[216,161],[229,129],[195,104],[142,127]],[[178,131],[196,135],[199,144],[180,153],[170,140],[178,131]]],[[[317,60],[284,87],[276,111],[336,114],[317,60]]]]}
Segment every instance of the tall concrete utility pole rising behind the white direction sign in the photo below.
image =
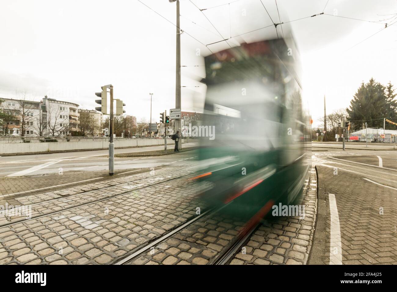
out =
{"type": "MultiPolygon", "coordinates": [[[[176,78],[175,78],[175,108],[181,108],[181,31],[179,22],[179,0],[176,1],[176,78]]],[[[181,119],[175,120],[175,133],[181,134],[181,119]]],[[[182,141],[178,141],[178,149],[182,148],[182,141]]]]}

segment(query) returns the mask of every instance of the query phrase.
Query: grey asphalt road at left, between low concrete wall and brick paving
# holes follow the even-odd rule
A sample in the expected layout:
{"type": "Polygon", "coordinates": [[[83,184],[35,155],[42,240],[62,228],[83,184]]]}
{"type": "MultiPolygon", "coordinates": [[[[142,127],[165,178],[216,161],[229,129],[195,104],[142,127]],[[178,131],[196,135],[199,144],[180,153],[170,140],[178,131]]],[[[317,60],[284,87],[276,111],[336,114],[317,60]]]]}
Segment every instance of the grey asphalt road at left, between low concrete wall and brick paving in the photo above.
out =
{"type": "MultiPolygon", "coordinates": [[[[183,148],[197,146],[197,143],[183,144],[183,148]]],[[[173,147],[173,145],[168,145],[173,147]]],[[[164,145],[115,149],[116,154],[163,150],[164,145]]],[[[114,169],[131,169],[155,167],[159,164],[181,164],[192,157],[192,153],[178,153],[152,157],[125,157],[114,159],[114,169]]],[[[108,150],[48,153],[37,155],[17,155],[0,157],[0,177],[31,176],[38,174],[54,174],[60,171],[96,171],[108,169],[108,150]]]]}

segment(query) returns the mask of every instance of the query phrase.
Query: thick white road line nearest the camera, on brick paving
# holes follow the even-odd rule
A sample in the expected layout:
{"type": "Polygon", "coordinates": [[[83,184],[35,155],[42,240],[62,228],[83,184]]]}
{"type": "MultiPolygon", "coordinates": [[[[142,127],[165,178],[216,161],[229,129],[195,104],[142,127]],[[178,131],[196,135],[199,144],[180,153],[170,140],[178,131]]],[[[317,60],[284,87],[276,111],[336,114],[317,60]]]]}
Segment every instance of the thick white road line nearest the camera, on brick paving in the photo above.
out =
{"type": "Polygon", "coordinates": [[[342,265],[342,243],[341,226],[339,224],[338,208],[336,206],[335,195],[328,194],[330,201],[330,265],[342,265]]]}

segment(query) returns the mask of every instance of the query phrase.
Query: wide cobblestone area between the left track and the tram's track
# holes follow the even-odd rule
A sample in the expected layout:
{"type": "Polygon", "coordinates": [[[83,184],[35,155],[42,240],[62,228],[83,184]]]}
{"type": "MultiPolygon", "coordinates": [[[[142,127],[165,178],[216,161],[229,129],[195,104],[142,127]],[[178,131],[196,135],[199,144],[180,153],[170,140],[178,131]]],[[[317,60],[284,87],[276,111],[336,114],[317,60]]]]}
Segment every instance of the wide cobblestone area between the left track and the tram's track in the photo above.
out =
{"type": "MultiPolygon", "coordinates": [[[[185,173],[186,174],[186,173],[185,173]]],[[[181,178],[0,228],[0,264],[108,264],[206,208],[181,178]]]]}

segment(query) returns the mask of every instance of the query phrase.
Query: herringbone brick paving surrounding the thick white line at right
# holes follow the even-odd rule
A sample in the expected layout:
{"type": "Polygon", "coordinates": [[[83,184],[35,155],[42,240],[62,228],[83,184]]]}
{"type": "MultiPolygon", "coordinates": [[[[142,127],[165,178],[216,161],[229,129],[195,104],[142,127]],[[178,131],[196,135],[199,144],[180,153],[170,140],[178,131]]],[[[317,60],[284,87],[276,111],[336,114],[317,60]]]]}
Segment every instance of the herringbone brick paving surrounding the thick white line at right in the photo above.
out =
{"type": "MultiPolygon", "coordinates": [[[[334,166],[334,164],[332,164],[334,166]]],[[[338,168],[338,164],[335,165],[338,168]]],[[[319,199],[325,200],[326,234],[322,263],[330,263],[330,197],[335,195],[337,215],[341,234],[341,263],[360,264],[396,264],[397,263],[397,189],[396,179],[390,171],[368,166],[360,169],[341,166],[338,168],[317,165],[319,181],[319,199]],[[368,175],[374,175],[370,177],[368,175]],[[375,184],[363,178],[378,183],[375,184]],[[384,180],[384,181],[382,181],[384,180]],[[323,191],[320,192],[320,189],[323,191]]],[[[394,172],[394,174],[396,174],[394,172]]],[[[317,238],[315,237],[315,240],[317,238]]],[[[337,252],[335,252],[337,255],[337,252]]]]}

